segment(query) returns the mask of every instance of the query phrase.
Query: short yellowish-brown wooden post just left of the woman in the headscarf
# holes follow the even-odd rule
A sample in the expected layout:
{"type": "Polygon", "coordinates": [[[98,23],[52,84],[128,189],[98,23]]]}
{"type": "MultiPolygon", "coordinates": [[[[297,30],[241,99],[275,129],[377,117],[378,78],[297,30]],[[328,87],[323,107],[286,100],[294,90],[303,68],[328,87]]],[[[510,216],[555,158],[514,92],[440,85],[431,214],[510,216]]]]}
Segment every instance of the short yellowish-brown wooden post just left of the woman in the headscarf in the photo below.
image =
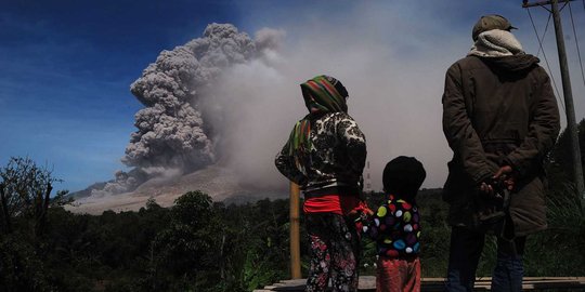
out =
{"type": "Polygon", "coordinates": [[[299,186],[290,182],[290,278],[300,279],[300,190],[299,186]]]}

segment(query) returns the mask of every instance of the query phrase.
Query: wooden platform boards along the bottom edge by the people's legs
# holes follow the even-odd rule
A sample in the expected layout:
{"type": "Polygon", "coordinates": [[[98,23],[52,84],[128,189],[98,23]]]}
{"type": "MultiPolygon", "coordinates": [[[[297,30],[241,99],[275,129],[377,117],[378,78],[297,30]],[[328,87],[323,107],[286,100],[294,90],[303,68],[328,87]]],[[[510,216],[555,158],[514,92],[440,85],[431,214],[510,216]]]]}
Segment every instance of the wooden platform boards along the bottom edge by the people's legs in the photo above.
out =
{"type": "MultiPolygon", "coordinates": [[[[307,279],[284,280],[278,283],[266,286],[253,292],[287,291],[302,292],[307,279]]],[[[444,278],[422,278],[422,291],[443,291],[444,278]]],[[[490,291],[491,277],[477,278],[476,291],[490,291]]],[[[562,290],[585,291],[585,277],[524,277],[523,291],[562,290]]],[[[374,276],[360,277],[359,291],[376,291],[376,278],[374,276]]]]}

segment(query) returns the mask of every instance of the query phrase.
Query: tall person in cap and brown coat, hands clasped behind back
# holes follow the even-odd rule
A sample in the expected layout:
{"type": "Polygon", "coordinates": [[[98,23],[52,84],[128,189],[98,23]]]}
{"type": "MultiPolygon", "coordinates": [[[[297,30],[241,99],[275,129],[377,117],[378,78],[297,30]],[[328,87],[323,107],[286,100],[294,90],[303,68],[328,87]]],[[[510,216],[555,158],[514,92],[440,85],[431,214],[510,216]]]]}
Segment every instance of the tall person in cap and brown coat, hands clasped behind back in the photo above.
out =
{"type": "Polygon", "coordinates": [[[559,111],[548,75],[512,28],[503,16],[482,16],[471,51],[446,72],[443,132],[454,154],[443,188],[452,226],[447,291],[472,291],[490,231],[497,236],[492,291],[521,291],[525,238],[547,227],[543,159],[559,111]]]}

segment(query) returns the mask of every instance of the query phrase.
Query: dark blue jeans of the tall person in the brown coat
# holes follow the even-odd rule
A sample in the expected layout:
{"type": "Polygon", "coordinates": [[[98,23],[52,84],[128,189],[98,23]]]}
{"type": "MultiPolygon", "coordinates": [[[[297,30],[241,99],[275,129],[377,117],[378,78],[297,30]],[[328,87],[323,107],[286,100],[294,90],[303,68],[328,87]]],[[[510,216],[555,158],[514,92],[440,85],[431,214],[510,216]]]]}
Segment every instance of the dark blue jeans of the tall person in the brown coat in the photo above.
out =
{"type": "MultiPolygon", "coordinates": [[[[476,270],[483,250],[485,235],[464,227],[451,230],[447,282],[445,291],[473,291],[476,270]]],[[[492,275],[492,291],[522,291],[525,237],[511,241],[497,240],[497,263],[492,275]]]]}

